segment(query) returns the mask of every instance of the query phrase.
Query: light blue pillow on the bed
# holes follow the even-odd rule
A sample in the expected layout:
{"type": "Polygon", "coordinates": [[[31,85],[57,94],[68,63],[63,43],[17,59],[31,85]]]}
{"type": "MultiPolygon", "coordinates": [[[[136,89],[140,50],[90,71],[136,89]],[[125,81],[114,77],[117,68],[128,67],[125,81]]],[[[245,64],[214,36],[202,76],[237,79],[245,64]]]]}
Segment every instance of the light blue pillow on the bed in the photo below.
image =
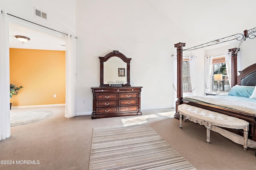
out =
{"type": "Polygon", "coordinates": [[[249,98],[252,96],[254,86],[233,86],[231,90],[228,92],[229,96],[242,96],[249,98]]]}

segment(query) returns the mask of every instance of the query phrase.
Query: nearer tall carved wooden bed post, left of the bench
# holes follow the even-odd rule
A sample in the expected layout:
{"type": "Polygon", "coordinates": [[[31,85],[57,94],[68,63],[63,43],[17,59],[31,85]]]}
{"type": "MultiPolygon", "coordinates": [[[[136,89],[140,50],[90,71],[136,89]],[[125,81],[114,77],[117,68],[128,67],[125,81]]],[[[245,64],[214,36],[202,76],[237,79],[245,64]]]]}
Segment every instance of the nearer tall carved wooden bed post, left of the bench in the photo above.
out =
{"type": "Polygon", "coordinates": [[[177,98],[176,101],[176,113],[174,114],[174,118],[180,119],[180,115],[178,113],[178,106],[182,104],[182,50],[185,47],[185,43],[177,43],[174,44],[174,47],[177,48],[177,98]]]}

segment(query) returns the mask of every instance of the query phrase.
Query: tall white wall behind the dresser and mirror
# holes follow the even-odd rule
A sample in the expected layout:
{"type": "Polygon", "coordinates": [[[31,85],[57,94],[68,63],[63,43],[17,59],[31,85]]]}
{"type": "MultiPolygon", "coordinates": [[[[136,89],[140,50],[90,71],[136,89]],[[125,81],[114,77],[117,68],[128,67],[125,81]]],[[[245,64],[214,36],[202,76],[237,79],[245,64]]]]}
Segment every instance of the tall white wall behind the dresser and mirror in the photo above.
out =
{"type": "MultiPolygon", "coordinates": [[[[130,84],[142,86],[141,109],[172,106],[171,55],[188,35],[147,0],[77,0],[77,114],[92,112],[90,87],[100,84],[99,56],[118,50],[130,63],[130,84]],[[82,104],[82,100],[86,100],[82,104]]],[[[202,72],[201,72],[202,73],[202,72]]]]}

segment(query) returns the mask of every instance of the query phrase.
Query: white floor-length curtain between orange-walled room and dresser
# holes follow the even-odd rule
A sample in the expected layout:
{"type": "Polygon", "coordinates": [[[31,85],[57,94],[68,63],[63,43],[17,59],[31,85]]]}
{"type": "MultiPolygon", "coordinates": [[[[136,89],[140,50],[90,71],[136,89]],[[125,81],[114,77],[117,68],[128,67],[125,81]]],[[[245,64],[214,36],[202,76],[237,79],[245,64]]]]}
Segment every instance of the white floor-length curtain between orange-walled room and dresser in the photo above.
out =
{"type": "Polygon", "coordinates": [[[65,117],[76,113],[76,38],[66,36],[66,104],[65,117]]]}

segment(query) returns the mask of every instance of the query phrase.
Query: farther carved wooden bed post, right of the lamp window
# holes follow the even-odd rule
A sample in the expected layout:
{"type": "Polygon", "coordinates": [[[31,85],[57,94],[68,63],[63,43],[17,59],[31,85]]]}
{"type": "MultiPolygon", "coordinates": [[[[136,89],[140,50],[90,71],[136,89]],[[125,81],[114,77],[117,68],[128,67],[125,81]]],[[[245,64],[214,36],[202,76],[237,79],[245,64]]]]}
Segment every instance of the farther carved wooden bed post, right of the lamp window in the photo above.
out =
{"type": "MultiPolygon", "coordinates": [[[[236,85],[236,77],[237,77],[237,48],[228,49],[228,52],[231,53],[231,72],[232,72],[232,79],[231,79],[231,87],[236,85]]],[[[238,50],[239,51],[239,50],[238,50]]]]}

